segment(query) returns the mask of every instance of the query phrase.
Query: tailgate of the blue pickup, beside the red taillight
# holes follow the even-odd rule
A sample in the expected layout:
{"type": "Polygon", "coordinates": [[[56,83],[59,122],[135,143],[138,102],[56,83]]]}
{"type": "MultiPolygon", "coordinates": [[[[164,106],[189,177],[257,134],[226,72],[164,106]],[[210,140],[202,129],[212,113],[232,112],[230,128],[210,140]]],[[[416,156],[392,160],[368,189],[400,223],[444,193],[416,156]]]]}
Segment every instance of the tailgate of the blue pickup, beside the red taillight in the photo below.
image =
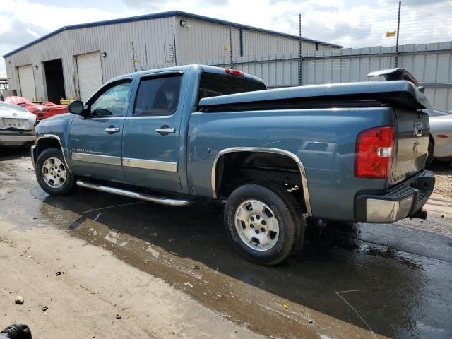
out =
{"type": "Polygon", "coordinates": [[[394,109],[396,114],[396,153],[389,184],[397,184],[425,167],[429,147],[429,115],[421,111],[394,109]]]}

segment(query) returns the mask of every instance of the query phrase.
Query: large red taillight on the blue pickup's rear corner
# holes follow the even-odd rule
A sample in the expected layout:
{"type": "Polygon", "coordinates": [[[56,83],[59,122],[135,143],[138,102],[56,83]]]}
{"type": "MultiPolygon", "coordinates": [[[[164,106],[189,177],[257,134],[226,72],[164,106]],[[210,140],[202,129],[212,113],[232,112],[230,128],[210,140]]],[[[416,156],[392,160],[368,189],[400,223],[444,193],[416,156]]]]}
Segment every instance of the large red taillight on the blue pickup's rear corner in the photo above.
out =
{"type": "Polygon", "coordinates": [[[387,178],[391,173],[394,126],[366,129],[359,133],[355,151],[355,177],[387,178]]]}

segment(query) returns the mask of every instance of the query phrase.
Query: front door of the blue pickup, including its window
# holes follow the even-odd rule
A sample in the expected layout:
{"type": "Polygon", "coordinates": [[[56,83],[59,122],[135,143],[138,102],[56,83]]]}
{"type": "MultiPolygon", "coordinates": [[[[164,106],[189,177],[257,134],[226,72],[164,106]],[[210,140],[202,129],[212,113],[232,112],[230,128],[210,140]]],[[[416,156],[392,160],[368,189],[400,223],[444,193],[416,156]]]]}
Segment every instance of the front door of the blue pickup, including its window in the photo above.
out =
{"type": "Polygon", "coordinates": [[[84,177],[124,182],[121,143],[131,81],[101,88],[74,117],[69,133],[73,172],[84,177]]]}

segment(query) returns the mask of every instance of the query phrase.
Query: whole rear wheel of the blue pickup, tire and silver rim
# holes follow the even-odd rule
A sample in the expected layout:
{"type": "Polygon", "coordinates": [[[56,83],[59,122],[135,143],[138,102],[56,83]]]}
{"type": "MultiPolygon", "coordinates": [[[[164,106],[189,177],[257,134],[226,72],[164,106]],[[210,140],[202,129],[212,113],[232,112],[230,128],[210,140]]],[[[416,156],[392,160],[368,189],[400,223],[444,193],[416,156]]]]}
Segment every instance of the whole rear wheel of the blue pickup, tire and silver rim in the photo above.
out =
{"type": "Polygon", "coordinates": [[[304,234],[304,219],[295,206],[292,196],[275,184],[246,184],[235,189],[227,199],[224,217],[232,245],[256,263],[284,261],[304,234]]]}

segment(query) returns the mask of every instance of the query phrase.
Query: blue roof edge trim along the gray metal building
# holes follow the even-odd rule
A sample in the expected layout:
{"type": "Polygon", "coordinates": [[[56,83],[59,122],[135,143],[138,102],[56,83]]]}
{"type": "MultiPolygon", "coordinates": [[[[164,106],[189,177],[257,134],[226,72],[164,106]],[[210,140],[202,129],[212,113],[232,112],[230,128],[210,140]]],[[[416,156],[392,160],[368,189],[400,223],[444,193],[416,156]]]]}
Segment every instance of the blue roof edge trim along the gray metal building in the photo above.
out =
{"type": "MultiPolygon", "coordinates": [[[[283,32],[276,32],[274,30],[265,30],[263,28],[256,28],[253,26],[249,26],[249,25],[242,25],[240,23],[232,23],[230,21],[227,20],[220,20],[220,19],[215,19],[215,18],[210,18],[208,16],[199,16],[198,14],[193,14],[193,13],[187,13],[187,12],[183,12],[183,11],[169,11],[169,12],[162,12],[162,13],[153,13],[153,14],[145,14],[143,16],[131,16],[129,18],[119,18],[119,19],[113,19],[113,20],[102,20],[102,21],[96,21],[94,23],[81,23],[78,25],[69,25],[69,26],[64,26],[59,28],[58,30],[54,30],[53,32],[49,32],[49,34],[47,35],[43,35],[42,37],[33,40],[32,42],[29,42],[28,44],[24,44],[22,47],[19,47],[17,49],[14,49],[11,52],[8,52],[6,54],[4,54],[4,58],[9,57],[13,54],[16,54],[17,52],[22,51],[23,49],[26,49],[34,44],[37,44],[38,42],[41,42],[43,40],[48,39],[49,37],[53,37],[54,35],[57,35],[59,32],[63,32],[64,30],[77,30],[79,28],[89,28],[89,27],[96,27],[96,26],[102,26],[102,25],[113,25],[115,23],[131,23],[133,21],[142,21],[142,20],[150,20],[150,19],[157,19],[157,18],[169,18],[172,16],[183,16],[184,18],[191,18],[191,19],[196,19],[196,20],[203,20],[203,21],[208,21],[210,23],[219,23],[221,25],[231,25],[234,28],[243,28],[243,29],[247,29],[247,30],[256,30],[258,32],[264,32],[264,33],[268,33],[268,34],[273,34],[273,35],[279,35],[280,37],[290,37],[292,39],[299,39],[299,37],[297,35],[290,35],[290,34],[286,34],[283,32]]],[[[338,44],[331,44],[329,42],[323,42],[323,41],[319,41],[319,40],[313,40],[313,39],[308,39],[306,37],[302,37],[303,41],[308,41],[308,42],[313,42],[315,44],[324,44],[326,46],[331,46],[331,47],[338,47],[338,48],[342,48],[343,46],[340,46],[338,44]]]]}

